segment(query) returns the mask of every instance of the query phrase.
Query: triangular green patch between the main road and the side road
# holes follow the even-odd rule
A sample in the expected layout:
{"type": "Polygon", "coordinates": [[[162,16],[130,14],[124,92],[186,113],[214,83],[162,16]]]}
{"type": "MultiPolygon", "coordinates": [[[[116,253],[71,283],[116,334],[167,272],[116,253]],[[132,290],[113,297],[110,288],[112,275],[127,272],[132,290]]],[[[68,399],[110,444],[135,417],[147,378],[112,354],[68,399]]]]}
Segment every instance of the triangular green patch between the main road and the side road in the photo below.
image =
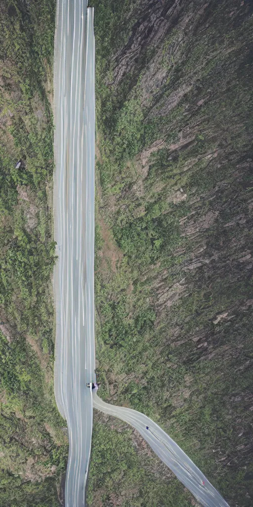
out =
{"type": "MultiPolygon", "coordinates": [[[[102,493],[106,505],[115,505],[120,498],[123,507],[190,507],[190,495],[185,494],[182,484],[168,480],[170,472],[160,465],[160,474],[150,473],[157,466],[158,458],[150,458],[147,449],[137,455],[131,439],[131,431],[114,423],[113,429],[104,428],[99,420],[94,424],[94,448],[91,464],[90,486],[102,493]],[[148,461],[148,466],[147,466],[148,461]]],[[[140,446],[140,442],[136,442],[140,446]]],[[[88,502],[91,495],[88,496],[88,502]]],[[[95,502],[94,502],[95,504],[95,502]]]]}

